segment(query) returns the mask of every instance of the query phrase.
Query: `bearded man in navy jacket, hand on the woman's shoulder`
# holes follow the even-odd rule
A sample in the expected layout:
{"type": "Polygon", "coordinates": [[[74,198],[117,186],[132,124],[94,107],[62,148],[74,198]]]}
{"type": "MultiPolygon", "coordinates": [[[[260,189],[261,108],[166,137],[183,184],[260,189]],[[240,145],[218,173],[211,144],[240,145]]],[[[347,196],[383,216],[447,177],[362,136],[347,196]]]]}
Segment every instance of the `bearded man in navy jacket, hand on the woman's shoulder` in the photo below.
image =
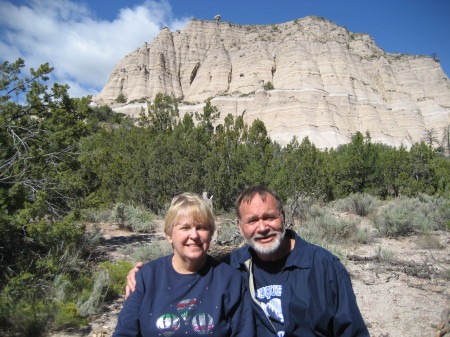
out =
{"type": "MultiPolygon", "coordinates": [[[[247,245],[225,261],[247,280],[258,337],[369,336],[345,267],[285,228],[274,192],[251,187],[239,196],[235,210],[247,245]]],[[[128,276],[127,294],[136,270],[128,276]]]]}

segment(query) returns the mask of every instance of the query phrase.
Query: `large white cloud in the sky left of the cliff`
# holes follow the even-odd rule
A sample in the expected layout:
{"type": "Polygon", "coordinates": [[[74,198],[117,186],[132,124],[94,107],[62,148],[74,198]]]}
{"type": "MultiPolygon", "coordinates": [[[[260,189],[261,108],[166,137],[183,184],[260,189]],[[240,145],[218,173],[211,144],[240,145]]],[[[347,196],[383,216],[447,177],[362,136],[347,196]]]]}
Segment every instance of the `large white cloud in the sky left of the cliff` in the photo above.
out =
{"type": "Polygon", "coordinates": [[[0,0],[0,58],[18,57],[26,66],[49,62],[55,81],[71,86],[71,96],[96,94],[114,65],[163,26],[181,29],[189,18],[173,18],[167,0],[147,0],[120,9],[112,21],[70,0],[29,0],[15,5],[0,0]]]}

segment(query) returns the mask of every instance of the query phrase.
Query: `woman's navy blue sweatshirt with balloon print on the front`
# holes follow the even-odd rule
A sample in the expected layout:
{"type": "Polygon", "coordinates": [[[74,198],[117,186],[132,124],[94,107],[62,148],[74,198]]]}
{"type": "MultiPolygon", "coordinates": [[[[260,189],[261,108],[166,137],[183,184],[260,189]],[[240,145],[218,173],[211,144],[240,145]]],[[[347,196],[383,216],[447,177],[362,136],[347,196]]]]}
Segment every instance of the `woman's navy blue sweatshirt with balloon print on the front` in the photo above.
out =
{"type": "Polygon", "coordinates": [[[172,255],[145,264],[125,301],[113,336],[254,336],[251,298],[242,275],[208,257],[194,274],[179,274],[172,255]]]}

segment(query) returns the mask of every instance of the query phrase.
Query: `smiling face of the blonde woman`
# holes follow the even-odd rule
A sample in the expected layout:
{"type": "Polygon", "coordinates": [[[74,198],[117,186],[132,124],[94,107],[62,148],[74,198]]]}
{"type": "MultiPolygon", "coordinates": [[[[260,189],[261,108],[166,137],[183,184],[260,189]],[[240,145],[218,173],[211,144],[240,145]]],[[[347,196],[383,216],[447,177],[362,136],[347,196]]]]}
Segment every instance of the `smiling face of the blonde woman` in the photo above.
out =
{"type": "Polygon", "coordinates": [[[174,257],[183,262],[194,262],[206,256],[211,242],[211,228],[195,220],[190,215],[180,215],[167,235],[167,240],[173,245],[174,257]]]}

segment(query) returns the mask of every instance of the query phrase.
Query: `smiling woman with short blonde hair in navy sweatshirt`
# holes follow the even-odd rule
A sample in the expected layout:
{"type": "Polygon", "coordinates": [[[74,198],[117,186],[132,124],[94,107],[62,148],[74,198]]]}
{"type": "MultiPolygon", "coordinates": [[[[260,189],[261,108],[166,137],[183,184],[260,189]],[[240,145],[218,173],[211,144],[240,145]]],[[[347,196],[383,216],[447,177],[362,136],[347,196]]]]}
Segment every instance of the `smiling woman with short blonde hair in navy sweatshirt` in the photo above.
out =
{"type": "Polygon", "coordinates": [[[253,336],[250,296],[240,272],[207,254],[214,216],[194,193],[173,198],[164,232],[173,254],[145,264],[124,303],[119,336],[253,336]]]}

